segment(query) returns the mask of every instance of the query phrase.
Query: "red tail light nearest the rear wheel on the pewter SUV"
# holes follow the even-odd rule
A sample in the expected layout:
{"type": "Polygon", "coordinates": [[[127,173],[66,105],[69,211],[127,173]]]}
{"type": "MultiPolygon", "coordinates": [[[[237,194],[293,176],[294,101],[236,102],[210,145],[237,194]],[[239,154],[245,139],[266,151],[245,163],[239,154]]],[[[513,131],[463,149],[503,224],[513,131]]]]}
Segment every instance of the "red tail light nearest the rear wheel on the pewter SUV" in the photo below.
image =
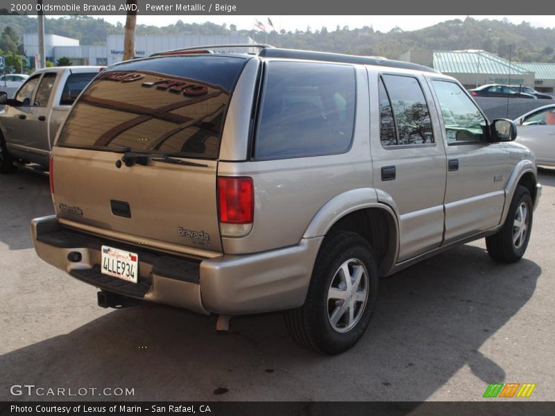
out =
{"type": "Polygon", "coordinates": [[[252,177],[218,177],[218,212],[222,236],[244,236],[253,228],[255,187],[252,177]]]}

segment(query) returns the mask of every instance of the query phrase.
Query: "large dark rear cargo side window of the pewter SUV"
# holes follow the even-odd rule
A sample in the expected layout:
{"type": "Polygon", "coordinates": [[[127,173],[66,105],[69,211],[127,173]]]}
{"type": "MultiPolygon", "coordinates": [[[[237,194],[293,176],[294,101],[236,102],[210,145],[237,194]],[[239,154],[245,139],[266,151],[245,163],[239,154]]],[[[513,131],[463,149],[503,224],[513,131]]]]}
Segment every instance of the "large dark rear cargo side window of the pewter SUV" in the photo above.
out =
{"type": "Polygon", "coordinates": [[[268,62],[255,159],[344,153],[355,123],[355,69],[268,62]]]}

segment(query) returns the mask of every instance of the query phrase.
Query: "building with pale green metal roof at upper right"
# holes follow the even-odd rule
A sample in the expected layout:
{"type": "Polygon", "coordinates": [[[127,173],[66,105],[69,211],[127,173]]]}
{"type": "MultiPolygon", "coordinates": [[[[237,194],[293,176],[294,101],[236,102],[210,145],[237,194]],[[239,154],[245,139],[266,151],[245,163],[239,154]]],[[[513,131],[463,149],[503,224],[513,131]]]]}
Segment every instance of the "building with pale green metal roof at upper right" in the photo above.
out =
{"type": "Polygon", "coordinates": [[[509,62],[486,51],[412,50],[400,60],[432,67],[459,80],[466,88],[484,84],[526,85],[539,92],[555,92],[555,64],[509,62]]]}

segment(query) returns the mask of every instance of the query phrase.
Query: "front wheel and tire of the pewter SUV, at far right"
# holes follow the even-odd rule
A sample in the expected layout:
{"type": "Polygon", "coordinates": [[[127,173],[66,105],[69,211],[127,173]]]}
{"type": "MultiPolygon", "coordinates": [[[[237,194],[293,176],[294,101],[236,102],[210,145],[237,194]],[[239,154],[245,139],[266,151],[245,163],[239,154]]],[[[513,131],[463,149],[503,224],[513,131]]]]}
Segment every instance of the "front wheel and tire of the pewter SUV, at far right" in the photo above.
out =
{"type": "Polygon", "coordinates": [[[532,209],[530,191],[526,187],[518,186],[503,227],[493,236],[486,237],[486,248],[492,259],[502,263],[514,263],[522,258],[532,231],[532,209]]]}

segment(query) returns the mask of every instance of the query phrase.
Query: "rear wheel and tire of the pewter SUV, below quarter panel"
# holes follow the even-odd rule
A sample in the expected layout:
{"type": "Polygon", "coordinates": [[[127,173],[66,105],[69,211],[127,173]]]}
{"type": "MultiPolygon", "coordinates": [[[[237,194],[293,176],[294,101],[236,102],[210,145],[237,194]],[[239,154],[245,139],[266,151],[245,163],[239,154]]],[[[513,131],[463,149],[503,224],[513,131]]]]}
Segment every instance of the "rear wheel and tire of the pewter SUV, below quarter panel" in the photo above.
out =
{"type": "Polygon", "coordinates": [[[366,331],[377,289],[377,261],[368,242],[354,232],[330,234],[316,257],[305,304],[285,313],[287,331],[302,347],[339,354],[366,331]],[[350,286],[341,270],[348,270],[350,286]]]}

